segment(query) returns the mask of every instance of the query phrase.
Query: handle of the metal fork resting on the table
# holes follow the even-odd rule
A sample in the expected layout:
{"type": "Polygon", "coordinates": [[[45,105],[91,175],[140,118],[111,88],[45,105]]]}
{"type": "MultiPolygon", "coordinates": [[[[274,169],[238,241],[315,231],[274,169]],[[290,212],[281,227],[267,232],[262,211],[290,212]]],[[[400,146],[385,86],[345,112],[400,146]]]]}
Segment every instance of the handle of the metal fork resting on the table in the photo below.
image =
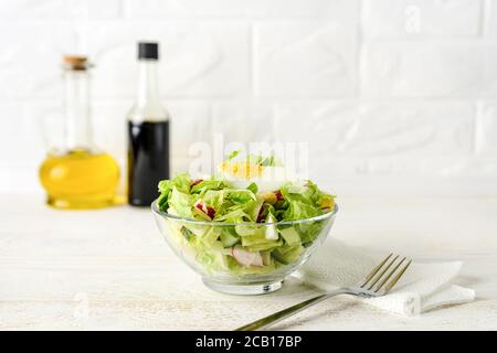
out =
{"type": "Polygon", "coordinates": [[[296,314],[297,312],[303,311],[304,309],[307,309],[307,308],[309,308],[309,307],[311,307],[314,304],[317,304],[318,302],[320,302],[322,300],[326,300],[328,298],[331,298],[331,297],[335,297],[335,296],[338,296],[338,295],[345,295],[345,293],[348,293],[348,292],[349,291],[347,289],[342,288],[342,289],[337,289],[337,290],[330,291],[328,293],[320,295],[320,296],[307,299],[307,300],[305,300],[305,301],[303,301],[303,302],[300,302],[298,304],[295,304],[295,306],[292,306],[289,308],[283,309],[283,310],[281,310],[278,312],[275,312],[275,313],[273,313],[273,314],[271,314],[268,317],[262,318],[262,319],[260,319],[257,321],[254,321],[252,323],[248,323],[246,325],[237,328],[234,331],[255,331],[255,330],[260,330],[260,329],[266,328],[266,327],[268,327],[271,324],[275,324],[276,322],[279,322],[279,321],[282,321],[282,320],[286,319],[286,318],[289,318],[289,317],[296,314]]]}

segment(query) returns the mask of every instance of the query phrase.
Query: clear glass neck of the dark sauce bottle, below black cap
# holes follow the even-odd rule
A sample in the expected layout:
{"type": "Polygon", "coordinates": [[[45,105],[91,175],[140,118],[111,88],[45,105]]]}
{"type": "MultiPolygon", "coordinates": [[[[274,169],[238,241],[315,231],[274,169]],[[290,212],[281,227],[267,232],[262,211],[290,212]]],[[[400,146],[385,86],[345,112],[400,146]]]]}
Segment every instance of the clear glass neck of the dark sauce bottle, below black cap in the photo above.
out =
{"type": "Polygon", "coordinates": [[[160,106],[156,60],[140,60],[138,74],[138,107],[160,106]]]}

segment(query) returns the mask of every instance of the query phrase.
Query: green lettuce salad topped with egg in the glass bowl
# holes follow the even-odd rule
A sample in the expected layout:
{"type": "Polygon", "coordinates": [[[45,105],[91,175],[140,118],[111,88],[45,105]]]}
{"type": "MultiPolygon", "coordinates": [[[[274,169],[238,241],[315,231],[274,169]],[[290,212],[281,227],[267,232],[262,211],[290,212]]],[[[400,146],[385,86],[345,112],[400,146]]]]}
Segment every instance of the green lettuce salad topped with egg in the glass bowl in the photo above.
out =
{"type": "Polygon", "coordinates": [[[335,207],[335,196],[311,181],[282,175],[285,168],[275,158],[240,159],[235,152],[214,176],[183,173],[160,181],[157,207],[180,218],[169,225],[173,240],[204,269],[268,274],[298,261],[327,222],[308,218],[335,207]],[[308,222],[290,222],[299,220],[308,222]]]}

